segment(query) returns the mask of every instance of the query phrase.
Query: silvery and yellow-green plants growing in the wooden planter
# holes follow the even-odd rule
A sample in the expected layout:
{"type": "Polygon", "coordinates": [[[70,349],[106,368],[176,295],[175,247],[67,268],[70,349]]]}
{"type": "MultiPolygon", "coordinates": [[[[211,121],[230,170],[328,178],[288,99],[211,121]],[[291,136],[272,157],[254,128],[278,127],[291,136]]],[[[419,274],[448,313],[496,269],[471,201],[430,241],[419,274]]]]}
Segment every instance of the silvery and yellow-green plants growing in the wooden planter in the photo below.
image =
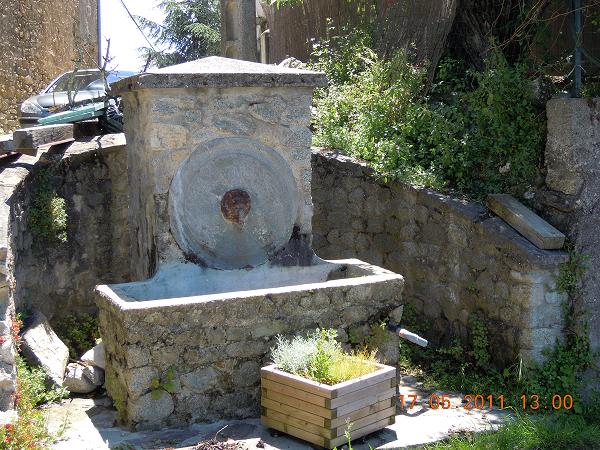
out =
{"type": "Polygon", "coordinates": [[[336,384],[377,370],[375,351],[345,353],[335,330],[318,329],[307,337],[277,337],[271,358],[280,370],[319,383],[336,384]]]}

